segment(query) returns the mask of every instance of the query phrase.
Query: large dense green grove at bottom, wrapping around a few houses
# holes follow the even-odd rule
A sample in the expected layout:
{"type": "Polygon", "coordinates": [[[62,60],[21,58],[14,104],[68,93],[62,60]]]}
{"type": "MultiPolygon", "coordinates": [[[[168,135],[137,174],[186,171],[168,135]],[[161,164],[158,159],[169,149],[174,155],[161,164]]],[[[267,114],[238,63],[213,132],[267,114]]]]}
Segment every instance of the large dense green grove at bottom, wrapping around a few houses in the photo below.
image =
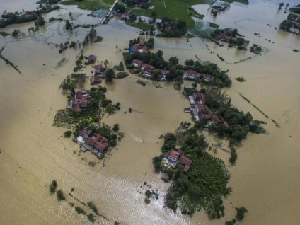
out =
{"type": "Polygon", "coordinates": [[[166,153],[168,148],[180,146],[183,154],[192,159],[188,172],[178,165],[174,170],[161,163],[164,154],[153,159],[156,172],[163,171],[173,175],[173,183],[166,194],[166,206],[175,210],[180,208],[185,214],[206,209],[209,217],[224,216],[222,196],[228,195],[231,188],[226,187],[230,175],[219,158],[205,151],[207,142],[204,136],[197,134],[197,129],[185,129],[182,125],[176,134],[168,134],[161,148],[166,153]]]}

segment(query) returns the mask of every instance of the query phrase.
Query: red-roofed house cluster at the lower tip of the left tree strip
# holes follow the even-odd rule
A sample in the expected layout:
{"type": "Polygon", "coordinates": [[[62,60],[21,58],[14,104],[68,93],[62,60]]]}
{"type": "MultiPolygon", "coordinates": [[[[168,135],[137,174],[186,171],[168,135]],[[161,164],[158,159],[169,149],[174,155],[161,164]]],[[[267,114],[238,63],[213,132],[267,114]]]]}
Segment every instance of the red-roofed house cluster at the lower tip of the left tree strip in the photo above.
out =
{"type": "Polygon", "coordinates": [[[87,127],[79,132],[79,136],[74,136],[73,141],[80,145],[81,151],[91,151],[98,158],[102,158],[109,147],[107,138],[93,133],[87,127]]]}

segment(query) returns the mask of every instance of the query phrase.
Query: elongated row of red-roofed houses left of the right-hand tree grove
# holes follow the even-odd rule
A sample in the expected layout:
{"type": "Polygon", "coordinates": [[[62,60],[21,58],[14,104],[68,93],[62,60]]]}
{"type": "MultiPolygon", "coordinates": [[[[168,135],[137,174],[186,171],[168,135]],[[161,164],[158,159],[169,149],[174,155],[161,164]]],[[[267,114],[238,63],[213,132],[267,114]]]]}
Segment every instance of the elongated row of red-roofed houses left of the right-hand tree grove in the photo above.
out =
{"type": "Polygon", "coordinates": [[[217,115],[214,115],[212,111],[207,107],[207,105],[205,105],[205,98],[203,93],[196,92],[192,96],[189,96],[189,100],[191,110],[196,121],[212,120],[215,125],[223,123],[226,127],[229,127],[229,123],[224,119],[224,117],[218,117],[217,115]]]}

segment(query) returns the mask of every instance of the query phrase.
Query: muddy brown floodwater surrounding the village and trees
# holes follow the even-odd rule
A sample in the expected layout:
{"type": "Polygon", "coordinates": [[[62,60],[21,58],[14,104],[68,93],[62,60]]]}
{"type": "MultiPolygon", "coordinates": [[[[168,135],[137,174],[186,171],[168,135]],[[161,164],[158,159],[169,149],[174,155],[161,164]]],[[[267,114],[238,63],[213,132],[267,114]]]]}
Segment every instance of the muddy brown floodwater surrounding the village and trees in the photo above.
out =
{"type": "MultiPolygon", "coordinates": [[[[35,1],[13,2],[0,0],[0,13],[4,9],[36,8],[35,1]]],[[[236,166],[229,166],[233,192],[224,200],[226,215],[219,221],[209,221],[203,213],[185,217],[163,207],[163,195],[168,185],[154,174],[151,158],[160,152],[161,134],[173,132],[181,121],[190,121],[190,115],[183,113],[188,101],[173,89],[171,83],[161,83],[156,88],[158,83],[150,81],[143,87],[136,84],[137,77],[131,75],[106,85],[108,98],[120,102],[121,110],[103,121],[108,125],[118,123],[125,138],[105,160],[105,167],[101,163],[91,167],[88,162],[98,162],[96,158],[88,152],[79,153],[79,146],[61,137],[64,129],[52,127],[56,110],[66,104],[59,84],[71,73],[79,54],[79,49],[59,54],[54,44],[81,41],[88,29],[74,30],[75,36],[64,31],[63,23],[54,22],[47,23],[45,32],[32,37],[20,40],[0,37],[0,47],[6,45],[2,54],[22,72],[18,74],[0,61],[0,223],[88,224],[86,217],[77,214],[67,202],[88,212],[80,202],[92,200],[105,217],[96,218],[100,224],[114,224],[115,221],[122,224],[224,224],[233,219],[233,206],[248,209],[243,224],[299,224],[300,216],[295,209],[300,203],[300,54],[292,50],[300,48],[300,38],[275,30],[287,17],[283,9],[277,10],[278,2],[250,1],[248,6],[233,4],[229,11],[215,19],[209,13],[205,14],[207,6],[195,6],[200,12],[204,11],[206,21],[218,23],[221,28],[238,28],[250,40],[250,45],[255,43],[265,47],[267,51],[262,56],[217,47],[197,38],[190,42],[156,38],[154,51],[163,50],[165,59],[175,55],[183,63],[185,59],[196,60],[196,55],[202,61],[215,62],[221,69],[229,69],[233,86],[226,92],[231,103],[249,111],[255,119],[267,122],[268,134],[250,134],[237,150],[236,166]],[[260,33],[260,37],[255,36],[255,32],[260,33]],[[221,62],[217,54],[225,61],[221,62]],[[248,57],[252,59],[234,64],[248,57]],[[67,60],[62,67],[57,67],[57,62],[63,58],[67,60]],[[246,82],[234,80],[238,76],[243,76],[246,82]],[[269,118],[238,93],[246,96],[269,118]],[[132,113],[128,112],[129,108],[132,113]],[[67,202],[57,202],[56,197],[49,194],[48,185],[52,180],[57,180],[58,187],[67,195],[67,202]],[[144,186],[144,181],[151,188],[144,186]],[[79,202],[68,195],[71,188],[79,202]],[[158,189],[160,193],[159,199],[148,205],[144,203],[147,189],[158,189]]],[[[292,6],[296,1],[289,1],[289,4],[292,6]]],[[[69,11],[74,14],[74,24],[98,23],[100,20],[86,16],[88,11],[74,6],[64,6],[64,9],[48,14],[47,18],[58,15],[68,18],[69,11]]],[[[33,23],[11,25],[1,30],[11,33],[16,29],[27,33],[31,26],[33,23]]],[[[122,52],[116,52],[115,46],[124,51],[139,30],[112,20],[108,25],[97,27],[97,32],[103,42],[89,45],[85,54],[96,54],[99,62],[108,59],[111,66],[122,60],[122,52]]],[[[91,67],[85,70],[88,73],[91,67]]],[[[209,137],[209,142],[220,141],[209,137]]],[[[223,147],[226,148],[226,143],[223,147]]],[[[229,154],[221,149],[217,156],[224,161],[229,159],[229,154]]]]}

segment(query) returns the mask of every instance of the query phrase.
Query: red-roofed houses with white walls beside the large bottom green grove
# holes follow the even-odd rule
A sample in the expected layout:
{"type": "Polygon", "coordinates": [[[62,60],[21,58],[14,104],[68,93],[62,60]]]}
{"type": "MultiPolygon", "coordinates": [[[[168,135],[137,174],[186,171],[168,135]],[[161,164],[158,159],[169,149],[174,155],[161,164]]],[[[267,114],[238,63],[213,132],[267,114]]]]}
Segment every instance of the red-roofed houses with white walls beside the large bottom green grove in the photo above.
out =
{"type": "MultiPolygon", "coordinates": [[[[190,158],[183,155],[183,151],[171,149],[166,157],[163,158],[163,163],[168,168],[175,168],[178,163],[182,164],[184,167],[183,171],[188,172],[190,170],[190,166],[192,164],[192,160],[190,158]]],[[[161,179],[168,181],[171,179],[168,173],[161,173],[161,179]]]]}

